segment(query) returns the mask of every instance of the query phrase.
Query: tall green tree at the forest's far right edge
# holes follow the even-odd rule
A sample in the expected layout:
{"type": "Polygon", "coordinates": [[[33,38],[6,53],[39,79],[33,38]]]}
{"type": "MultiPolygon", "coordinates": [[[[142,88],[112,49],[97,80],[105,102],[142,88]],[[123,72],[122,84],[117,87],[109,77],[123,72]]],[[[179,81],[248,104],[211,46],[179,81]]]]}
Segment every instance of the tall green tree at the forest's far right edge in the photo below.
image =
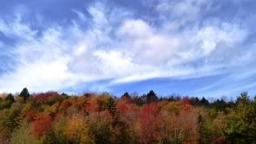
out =
{"type": "Polygon", "coordinates": [[[228,115],[225,133],[230,143],[256,142],[256,109],[247,92],[240,94],[234,110],[228,115]]]}

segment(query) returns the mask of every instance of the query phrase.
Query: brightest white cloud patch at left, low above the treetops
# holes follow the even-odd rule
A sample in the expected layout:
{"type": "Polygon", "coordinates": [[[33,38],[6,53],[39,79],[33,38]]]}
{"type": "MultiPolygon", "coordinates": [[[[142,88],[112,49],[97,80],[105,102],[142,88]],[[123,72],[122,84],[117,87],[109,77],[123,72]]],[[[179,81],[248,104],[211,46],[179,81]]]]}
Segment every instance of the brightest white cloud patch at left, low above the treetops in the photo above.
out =
{"type": "Polygon", "coordinates": [[[31,62],[17,67],[11,74],[1,77],[1,91],[17,91],[29,87],[32,91],[56,90],[72,86],[77,76],[68,71],[66,59],[54,62],[31,62]]]}

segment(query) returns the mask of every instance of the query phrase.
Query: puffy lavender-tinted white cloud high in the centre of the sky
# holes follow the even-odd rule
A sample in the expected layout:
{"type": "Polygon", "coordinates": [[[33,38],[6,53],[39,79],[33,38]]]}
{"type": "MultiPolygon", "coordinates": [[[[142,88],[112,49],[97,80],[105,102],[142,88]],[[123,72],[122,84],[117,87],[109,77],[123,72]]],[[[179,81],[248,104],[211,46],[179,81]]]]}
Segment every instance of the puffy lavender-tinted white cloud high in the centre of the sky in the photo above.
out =
{"type": "Polygon", "coordinates": [[[164,63],[177,52],[178,38],[158,34],[142,20],[126,20],[118,30],[121,47],[131,51],[134,62],[141,64],[164,63]]]}

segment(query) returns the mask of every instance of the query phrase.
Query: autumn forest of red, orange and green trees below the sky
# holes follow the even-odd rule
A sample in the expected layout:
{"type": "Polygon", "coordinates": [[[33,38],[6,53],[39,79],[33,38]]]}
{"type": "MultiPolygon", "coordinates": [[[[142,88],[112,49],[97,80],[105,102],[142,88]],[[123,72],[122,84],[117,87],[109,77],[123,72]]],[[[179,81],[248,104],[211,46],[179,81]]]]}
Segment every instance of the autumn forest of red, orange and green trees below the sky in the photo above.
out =
{"type": "Polygon", "coordinates": [[[50,91],[0,96],[3,144],[256,143],[256,97],[233,101],[50,91]]]}

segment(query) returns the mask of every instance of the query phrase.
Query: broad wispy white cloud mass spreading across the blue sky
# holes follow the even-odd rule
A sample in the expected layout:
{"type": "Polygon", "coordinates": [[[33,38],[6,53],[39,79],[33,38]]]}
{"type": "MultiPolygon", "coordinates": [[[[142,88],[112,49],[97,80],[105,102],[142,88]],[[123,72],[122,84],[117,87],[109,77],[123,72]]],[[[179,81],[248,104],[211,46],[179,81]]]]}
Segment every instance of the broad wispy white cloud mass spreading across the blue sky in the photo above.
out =
{"type": "Polygon", "coordinates": [[[0,32],[15,39],[11,45],[0,39],[0,49],[11,49],[8,58],[13,63],[8,66],[14,67],[0,73],[0,91],[25,86],[32,91],[65,90],[103,80],[107,82],[98,87],[110,90],[152,78],[232,73],[235,67],[253,62],[250,54],[255,50],[242,50],[250,47],[245,44],[250,27],[237,18],[206,17],[218,8],[214,2],[166,0],[154,5],[142,2],[142,6],[154,7],[152,18],[157,18],[138,17],[136,10],[107,2],[70,7],[70,14],[75,14],[70,22],[49,24],[43,15],[42,26],[34,26],[17,11],[13,17],[0,18],[0,32]],[[241,54],[240,64],[234,62],[241,54]]]}

